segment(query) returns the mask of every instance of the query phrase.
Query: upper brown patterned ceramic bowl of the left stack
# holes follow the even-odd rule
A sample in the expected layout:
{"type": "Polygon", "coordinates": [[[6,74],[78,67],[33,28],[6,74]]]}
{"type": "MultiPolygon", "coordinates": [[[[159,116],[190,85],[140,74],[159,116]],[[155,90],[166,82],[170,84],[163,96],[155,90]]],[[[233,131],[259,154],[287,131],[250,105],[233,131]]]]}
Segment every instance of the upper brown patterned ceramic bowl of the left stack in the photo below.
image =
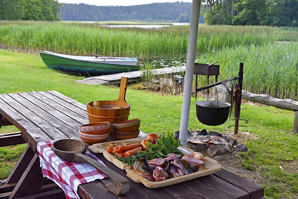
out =
{"type": "Polygon", "coordinates": [[[98,122],[91,123],[80,126],[80,131],[82,133],[92,134],[92,135],[100,135],[106,134],[110,132],[111,123],[110,122],[98,122]]]}

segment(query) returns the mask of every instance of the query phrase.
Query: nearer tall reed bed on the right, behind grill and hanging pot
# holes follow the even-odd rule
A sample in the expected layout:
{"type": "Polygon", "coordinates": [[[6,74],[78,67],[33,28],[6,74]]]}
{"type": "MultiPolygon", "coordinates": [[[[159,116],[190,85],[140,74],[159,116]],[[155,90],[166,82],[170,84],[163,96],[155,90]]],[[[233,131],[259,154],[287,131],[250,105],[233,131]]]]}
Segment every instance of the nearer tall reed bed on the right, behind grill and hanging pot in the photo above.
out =
{"type": "MultiPolygon", "coordinates": [[[[243,89],[254,94],[298,101],[298,43],[274,43],[266,46],[224,47],[198,58],[200,63],[220,64],[219,81],[238,76],[244,63],[243,89]]],[[[200,82],[206,82],[199,77],[200,82]]],[[[214,81],[214,80],[213,80],[214,81]]],[[[210,80],[210,82],[212,82],[210,80]]],[[[201,85],[203,86],[203,85],[201,85]]]]}

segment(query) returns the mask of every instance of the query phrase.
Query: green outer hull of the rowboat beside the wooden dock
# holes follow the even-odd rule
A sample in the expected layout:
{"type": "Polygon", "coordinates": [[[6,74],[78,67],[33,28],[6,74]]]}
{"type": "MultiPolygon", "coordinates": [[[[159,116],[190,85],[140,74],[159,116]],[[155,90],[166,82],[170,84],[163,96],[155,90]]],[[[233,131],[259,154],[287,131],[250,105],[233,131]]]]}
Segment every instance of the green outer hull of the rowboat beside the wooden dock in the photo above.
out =
{"type": "Polygon", "coordinates": [[[90,61],[73,60],[55,55],[41,53],[41,58],[50,69],[70,71],[89,74],[115,74],[122,72],[138,71],[139,65],[119,65],[110,63],[99,63],[90,61]]]}

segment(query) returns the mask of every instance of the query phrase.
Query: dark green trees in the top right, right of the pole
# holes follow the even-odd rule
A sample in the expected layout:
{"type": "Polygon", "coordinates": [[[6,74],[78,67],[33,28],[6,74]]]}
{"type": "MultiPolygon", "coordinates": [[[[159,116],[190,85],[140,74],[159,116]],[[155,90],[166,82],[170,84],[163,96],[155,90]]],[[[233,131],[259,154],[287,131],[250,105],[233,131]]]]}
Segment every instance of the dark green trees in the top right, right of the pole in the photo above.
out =
{"type": "Polygon", "coordinates": [[[218,13],[204,17],[206,24],[297,27],[298,0],[218,0],[218,13]]]}

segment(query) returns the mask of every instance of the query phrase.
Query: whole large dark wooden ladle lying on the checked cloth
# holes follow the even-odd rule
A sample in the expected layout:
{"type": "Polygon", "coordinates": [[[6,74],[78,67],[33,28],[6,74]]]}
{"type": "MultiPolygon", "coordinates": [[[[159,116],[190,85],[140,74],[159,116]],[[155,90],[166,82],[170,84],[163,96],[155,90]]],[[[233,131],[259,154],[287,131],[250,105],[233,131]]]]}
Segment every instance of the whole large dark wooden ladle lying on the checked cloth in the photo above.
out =
{"type": "Polygon", "coordinates": [[[113,183],[107,184],[106,187],[115,195],[125,194],[129,191],[130,183],[127,179],[93,158],[84,155],[87,148],[85,142],[75,139],[61,139],[53,142],[52,148],[54,153],[63,160],[87,163],[103,172],[113,181],[113,183]]]}

